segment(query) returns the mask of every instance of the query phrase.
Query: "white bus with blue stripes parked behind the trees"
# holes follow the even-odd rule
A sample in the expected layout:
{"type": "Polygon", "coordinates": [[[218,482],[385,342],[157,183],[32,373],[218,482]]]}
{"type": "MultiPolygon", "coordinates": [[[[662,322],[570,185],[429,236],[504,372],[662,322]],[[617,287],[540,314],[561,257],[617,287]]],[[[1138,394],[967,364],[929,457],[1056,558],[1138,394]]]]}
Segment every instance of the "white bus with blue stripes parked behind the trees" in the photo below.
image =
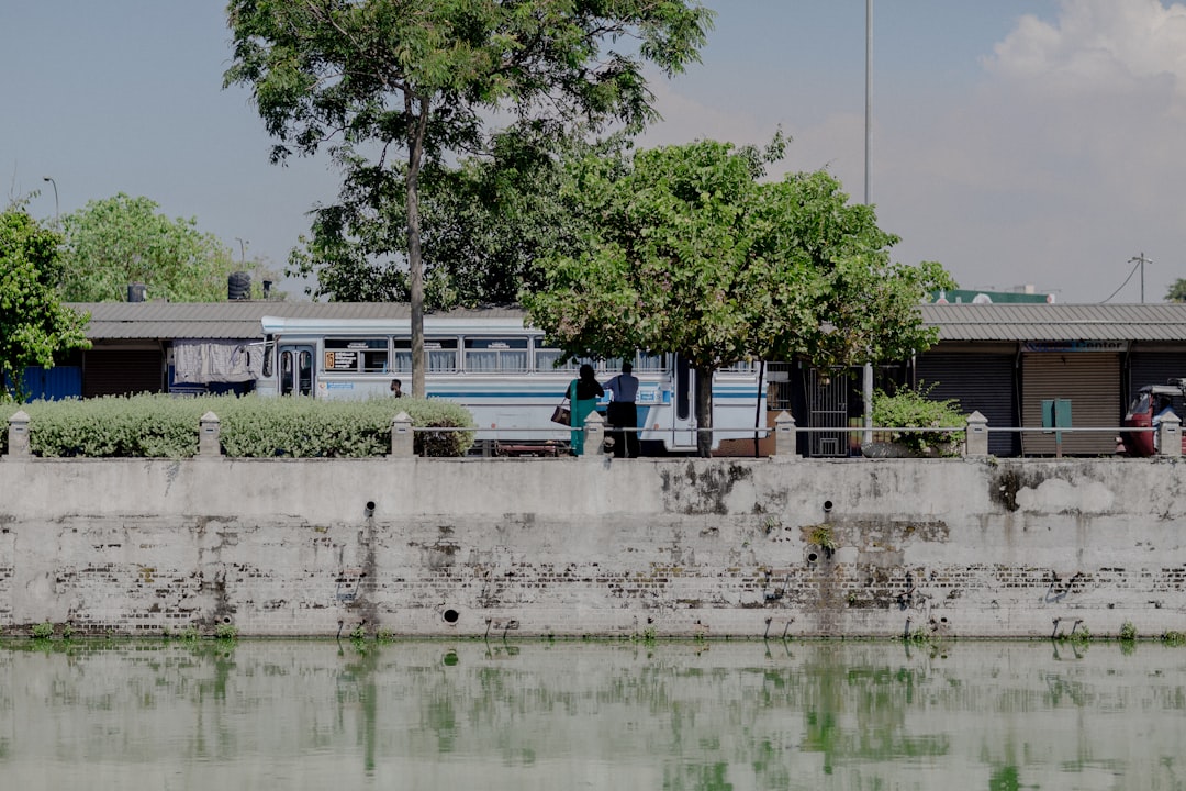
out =
{"type": "MultiPolygon", "coordinates": [[[[256,391],[313,398],[389,397],[393,378],[408,389],[412,325],[408,318],[261,320],[264,365],[256,391]]],[[[496,445],[566,444],[569,432],[550,422],[581,363],[598,381],[620,359],[561,364],[561,351],[524,324],[521,311],[490,308],[425,317],[425,388],[429,398],[454,401],[473,415],[476,440],[496,445]]],[[[638,426],[644,454],[696,449],[695,376],[677,355],[638,352],[638,426]]],[[[764,366],[741,363],[713,378],[713,446],[765,434],[764,366]],[[758,427],[761,427],[760,429],[758,427]]],[[[599,403],[604,410],[606,402],[599,403]]]]}

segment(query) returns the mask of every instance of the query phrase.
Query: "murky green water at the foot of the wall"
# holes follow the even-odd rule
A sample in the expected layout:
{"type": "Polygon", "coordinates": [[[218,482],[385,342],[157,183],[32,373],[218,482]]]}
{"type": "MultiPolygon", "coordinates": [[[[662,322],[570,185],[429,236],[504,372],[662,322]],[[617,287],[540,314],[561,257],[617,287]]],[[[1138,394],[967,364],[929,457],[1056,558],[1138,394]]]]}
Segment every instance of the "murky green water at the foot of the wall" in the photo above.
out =
{"type": "Polygon", "coordinates": [[[0,789],[1186,789],[1186,649],[14,643],[0,789]]]}

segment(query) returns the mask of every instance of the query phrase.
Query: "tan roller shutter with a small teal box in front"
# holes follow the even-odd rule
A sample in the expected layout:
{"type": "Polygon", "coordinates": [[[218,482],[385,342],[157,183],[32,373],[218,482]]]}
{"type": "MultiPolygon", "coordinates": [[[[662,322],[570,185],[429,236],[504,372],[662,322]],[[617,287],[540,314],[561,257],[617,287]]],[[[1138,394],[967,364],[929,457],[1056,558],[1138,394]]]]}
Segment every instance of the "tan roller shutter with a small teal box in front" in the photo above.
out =
{"type": "MultiPolygon", "coordinates": [[[[1041,402],[1070,398],[1071,426],[1118,428],[1123,419],[1120,400],[1120,355],[1095,352],[1029,353],[1021,363],[1021,417],[1026,428],[1041,428],[1041,402]]],[[[1054,434],[1021,435],[1026,455],[1054,455],[1054,434]]],[[[1116,432],[1063,434],[1067,455],[1111,455],[1116,432]]]]}

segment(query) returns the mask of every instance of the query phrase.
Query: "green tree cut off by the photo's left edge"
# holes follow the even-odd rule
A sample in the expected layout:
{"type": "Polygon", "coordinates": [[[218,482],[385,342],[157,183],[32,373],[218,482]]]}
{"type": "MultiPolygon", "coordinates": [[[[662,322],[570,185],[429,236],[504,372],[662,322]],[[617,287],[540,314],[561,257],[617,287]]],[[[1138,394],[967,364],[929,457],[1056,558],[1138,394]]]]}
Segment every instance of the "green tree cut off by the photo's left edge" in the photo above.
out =
{"type": "Polygon", "coordinates": [[[25,368],[52,368],[58,352],[90,346],[88,317],[62,306],[55,291],[60,247],[23,203],[0,213],[0,400],[25,400],[25,368]]]}

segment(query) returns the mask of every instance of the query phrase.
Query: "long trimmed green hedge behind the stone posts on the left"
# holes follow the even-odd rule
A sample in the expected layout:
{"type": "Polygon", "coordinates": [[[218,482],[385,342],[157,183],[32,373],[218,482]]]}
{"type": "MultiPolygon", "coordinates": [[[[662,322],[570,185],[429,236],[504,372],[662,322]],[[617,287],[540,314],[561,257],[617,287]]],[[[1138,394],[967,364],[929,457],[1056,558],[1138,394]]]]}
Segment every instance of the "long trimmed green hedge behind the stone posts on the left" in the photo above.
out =
{"type": "MultiPolygon", "coordinates": [[[[391,452],[391,421],[407,412],[417,427],[472,427],[468,410],[432,398],[318,401],[166,395],[36,401],[25,404],[28,441],[40,457],[187,458],[198,452],[202,415],[218,416],[223,452],[237,458],[374,458],[391,452]]],[[[18,409],[0,408],[7,421],[18,409]]],[[[421,455],[464,455],[473,432],[416,432],[421,455]]],[[[7,451],[0,432],[0,451],[7,451]]]]}

